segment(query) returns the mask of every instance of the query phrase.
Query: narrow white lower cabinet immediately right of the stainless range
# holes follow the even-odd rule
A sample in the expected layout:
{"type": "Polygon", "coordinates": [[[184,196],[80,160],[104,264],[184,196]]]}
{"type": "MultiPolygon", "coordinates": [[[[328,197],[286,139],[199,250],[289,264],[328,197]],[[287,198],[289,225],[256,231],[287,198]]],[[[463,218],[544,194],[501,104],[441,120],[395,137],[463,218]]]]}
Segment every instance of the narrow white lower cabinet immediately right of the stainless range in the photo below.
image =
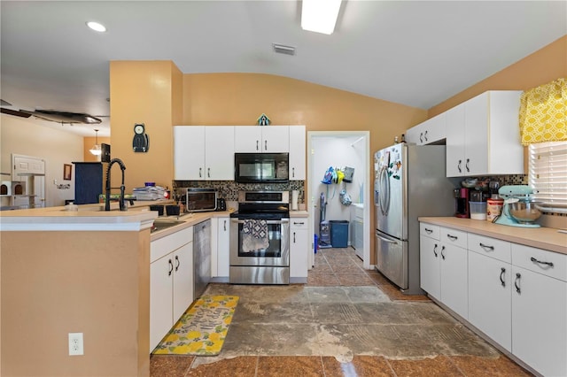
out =
{"type": "Polygon", "coordinates": [[[290,223],[290,277],[307,281],[309,258],[307,218],[291,218],[290,223]]]}

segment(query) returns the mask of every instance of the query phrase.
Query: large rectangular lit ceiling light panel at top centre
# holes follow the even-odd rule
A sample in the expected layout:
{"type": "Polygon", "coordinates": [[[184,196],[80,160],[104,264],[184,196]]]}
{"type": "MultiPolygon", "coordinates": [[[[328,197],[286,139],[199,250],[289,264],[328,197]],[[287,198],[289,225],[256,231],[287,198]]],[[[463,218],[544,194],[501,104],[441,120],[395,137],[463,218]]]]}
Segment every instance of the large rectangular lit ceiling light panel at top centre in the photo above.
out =
{"type": "Polygon", "coordinates": [[[303,0],[302,3],[301,27],[315,33],[332,34],[341,0],[303,0]]]}

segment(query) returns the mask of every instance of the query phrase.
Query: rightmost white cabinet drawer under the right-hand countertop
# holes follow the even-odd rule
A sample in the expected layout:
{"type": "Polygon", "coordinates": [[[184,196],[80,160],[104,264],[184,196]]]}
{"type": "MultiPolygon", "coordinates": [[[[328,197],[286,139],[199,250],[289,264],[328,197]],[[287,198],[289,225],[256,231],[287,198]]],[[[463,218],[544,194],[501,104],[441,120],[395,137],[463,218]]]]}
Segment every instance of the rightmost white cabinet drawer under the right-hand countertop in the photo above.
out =
{"type": "Polygon", "coordinates": [[[567,281],[567,255],[512,243],[512,265],[567,281]]]}

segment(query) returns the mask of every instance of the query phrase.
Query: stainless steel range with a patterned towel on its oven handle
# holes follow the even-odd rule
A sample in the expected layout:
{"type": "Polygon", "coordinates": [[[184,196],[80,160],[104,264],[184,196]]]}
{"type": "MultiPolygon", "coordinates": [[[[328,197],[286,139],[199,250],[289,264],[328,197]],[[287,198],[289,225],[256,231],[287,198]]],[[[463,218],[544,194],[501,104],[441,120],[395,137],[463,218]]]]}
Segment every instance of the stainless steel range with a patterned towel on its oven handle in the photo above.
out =
{"type": "Polygon", "coordinates": [[[230,283],[290,283],[289,202],[288,191],[238,192],[238,212],[230,214],[230,283]]]}

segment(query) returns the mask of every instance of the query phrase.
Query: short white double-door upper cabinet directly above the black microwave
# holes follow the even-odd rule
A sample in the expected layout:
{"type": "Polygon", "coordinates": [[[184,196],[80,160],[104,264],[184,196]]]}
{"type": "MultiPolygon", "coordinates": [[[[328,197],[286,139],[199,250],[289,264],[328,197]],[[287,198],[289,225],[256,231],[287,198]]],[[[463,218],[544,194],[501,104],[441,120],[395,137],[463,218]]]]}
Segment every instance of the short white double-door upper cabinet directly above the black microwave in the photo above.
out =
{"type": "Polygon", "coordinates": [[[289,152],[290,128],[287,126],[237,126],[234,142],[236,152],[289,152]]]}

